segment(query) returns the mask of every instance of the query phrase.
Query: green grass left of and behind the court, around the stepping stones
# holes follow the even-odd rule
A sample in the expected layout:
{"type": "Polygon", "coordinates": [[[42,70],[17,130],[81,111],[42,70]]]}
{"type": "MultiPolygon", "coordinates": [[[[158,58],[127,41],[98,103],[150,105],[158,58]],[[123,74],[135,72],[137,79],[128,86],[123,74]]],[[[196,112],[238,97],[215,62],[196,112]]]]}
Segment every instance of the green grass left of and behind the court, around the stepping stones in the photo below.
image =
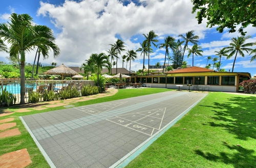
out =
{"type": "MultiPolygon", "coordinates": [[[[123,89],[123,90],[119,90],[113,96],[97,98],[97,99],[88,100],[88,101],[84,101],[84,102],[77,102],[77,103],[74,103],[73,105],[75,105],[75,106],[88,105],[88,104],[94,104],[94,103],[130,98],[130,97],[135,97],[135,96],[142,96],[142,95],[147,95],[147,94],[166,92],[166,91],[171,91],[171,90],[170,89],[158,89],[158,88],[123,89]]],[[[18,108],[18,107],[10,107],[10,109],[12,109],[12,108],[18,108]]],[[[8,152],[13,152],[13,151],[16,151],[19,149],[27,148],[28,152],[30,154],[31,160],[32,160],[32,163],[28,167],[49,167],[44,156],[42,156],[39,149],[35,145],[32,137],[27,132],[26,128],[23,126],[22,122],[19,120],[18,117],[36,114],[36,113],[44,113],[46,111],[52,111],[52,110],[63,109],[63,108],[65,108],[65,107],[60,106],[60,107],[48,108],[45,110],[34,110],[34,111],[27,112],[27,113],[14,113],[13,115],[0,117],[0,120],[14,117],[15,120],[12,122],[17,123],[17,126],[14,128],[19,128],[20,132],[22,132],[21,135],[0,139],[0,155],[3,155],[8,152]]],[[[70,115],[72,115],[72,114],[70,114],[70,115]]]]}

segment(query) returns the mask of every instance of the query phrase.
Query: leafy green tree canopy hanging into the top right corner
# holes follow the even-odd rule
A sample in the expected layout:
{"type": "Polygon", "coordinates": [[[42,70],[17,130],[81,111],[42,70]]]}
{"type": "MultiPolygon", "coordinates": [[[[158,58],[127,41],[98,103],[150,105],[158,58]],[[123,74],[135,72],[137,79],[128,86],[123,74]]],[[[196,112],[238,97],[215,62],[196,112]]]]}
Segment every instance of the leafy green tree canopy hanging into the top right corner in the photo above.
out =
{"type": "Polygon", "coordinates": [[[229,33],[238,31],[244,36],[244,28],[249,24],[256,26],[256,1],[254,0],[191,0],[197,12],[198,23],[207,19],[207,26],[219,25],[217,30],[222,33],[225,28],[229,33]]]}

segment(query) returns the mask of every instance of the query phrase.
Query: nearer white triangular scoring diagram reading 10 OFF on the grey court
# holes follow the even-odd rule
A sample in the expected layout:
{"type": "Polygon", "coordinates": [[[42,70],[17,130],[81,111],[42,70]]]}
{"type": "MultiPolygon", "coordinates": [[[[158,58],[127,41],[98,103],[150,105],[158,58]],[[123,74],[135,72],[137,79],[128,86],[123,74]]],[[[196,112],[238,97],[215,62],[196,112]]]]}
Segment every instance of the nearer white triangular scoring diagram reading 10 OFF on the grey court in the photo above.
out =
{"type": "Polygon", "coordinates": [[[155,129],[161,128],[165,111],[166,107],[118,115],[106,120],[151,136],[155,129]]]}

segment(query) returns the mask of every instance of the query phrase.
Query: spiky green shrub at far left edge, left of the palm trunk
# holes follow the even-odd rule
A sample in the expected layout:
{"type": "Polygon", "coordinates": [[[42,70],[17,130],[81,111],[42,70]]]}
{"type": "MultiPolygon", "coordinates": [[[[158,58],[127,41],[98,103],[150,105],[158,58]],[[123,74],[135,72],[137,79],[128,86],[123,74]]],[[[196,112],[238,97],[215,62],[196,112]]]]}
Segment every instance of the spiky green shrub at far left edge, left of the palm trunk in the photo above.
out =
{"type": "Polygon", "coordinates": [[[12,106],[16,103],[16,96],[6,91],[6,88],[2,91],[0,88],[0,106],[12,106]]]}

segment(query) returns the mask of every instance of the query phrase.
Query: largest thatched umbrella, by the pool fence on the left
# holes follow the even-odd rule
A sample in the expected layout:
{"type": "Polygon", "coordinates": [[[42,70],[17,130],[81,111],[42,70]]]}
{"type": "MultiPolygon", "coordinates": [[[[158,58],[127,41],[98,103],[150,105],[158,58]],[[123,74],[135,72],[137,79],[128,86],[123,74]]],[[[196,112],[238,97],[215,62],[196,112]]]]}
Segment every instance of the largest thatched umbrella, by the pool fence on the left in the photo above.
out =
{"type": "Polygon", "coordinates": [[[62,80],[64,78],[64,76],[73,76],[73,75],[77,75],[78,73],[76,71],[74,71],[73,69],[66,67],[65,65],[60,65],[58,67],[55,67],[53,69],[49,69],[48,71],[45,72],[45,74],[48,75],[61,75],[62,76],[62,80]]]}

